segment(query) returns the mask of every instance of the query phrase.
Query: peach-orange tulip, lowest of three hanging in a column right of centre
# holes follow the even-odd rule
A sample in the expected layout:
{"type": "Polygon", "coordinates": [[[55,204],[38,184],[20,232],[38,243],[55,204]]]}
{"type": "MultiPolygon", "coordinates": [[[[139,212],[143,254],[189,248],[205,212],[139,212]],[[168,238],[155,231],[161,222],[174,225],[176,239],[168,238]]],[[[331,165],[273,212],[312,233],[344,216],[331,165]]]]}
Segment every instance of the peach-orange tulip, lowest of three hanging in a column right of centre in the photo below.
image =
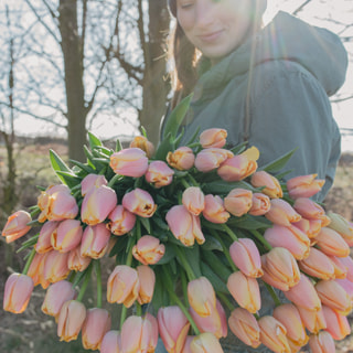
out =
{"type": "Polygon", "coordinates": [[[260,328],[255,317],[246,309],[236,308],[228,319],[232,332],[246,345],[258,347],[260,342],[260,328]]]}

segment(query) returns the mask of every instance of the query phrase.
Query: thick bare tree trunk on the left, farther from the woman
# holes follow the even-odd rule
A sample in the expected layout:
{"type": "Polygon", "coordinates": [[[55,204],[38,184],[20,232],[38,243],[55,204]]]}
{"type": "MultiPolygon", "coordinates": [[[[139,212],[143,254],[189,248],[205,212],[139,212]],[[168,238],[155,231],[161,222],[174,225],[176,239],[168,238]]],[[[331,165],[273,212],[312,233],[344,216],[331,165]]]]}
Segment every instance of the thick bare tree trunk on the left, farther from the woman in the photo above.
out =
{"type": "Polygon", "coordinates": [[[83,53],[77,26],[77,0],[60,0],[58,12],[65,66],[68,157],[84,161],[87,113],[83,85],[83,53]]]}

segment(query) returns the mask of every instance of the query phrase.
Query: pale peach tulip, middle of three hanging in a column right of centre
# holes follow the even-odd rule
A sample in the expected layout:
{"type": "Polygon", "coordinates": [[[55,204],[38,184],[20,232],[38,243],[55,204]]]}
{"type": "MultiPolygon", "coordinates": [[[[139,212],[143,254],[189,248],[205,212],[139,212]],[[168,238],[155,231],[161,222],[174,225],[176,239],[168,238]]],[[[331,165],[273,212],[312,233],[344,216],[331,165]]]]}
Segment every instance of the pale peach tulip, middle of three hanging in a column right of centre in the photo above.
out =
{"type": "Polygon", "coordinates": [[[227,288],[240,308],[252,313],[260,310],[261,297],[256,278],[247,277],[242,271],[233,272],[228,277],[227,288]]]}

